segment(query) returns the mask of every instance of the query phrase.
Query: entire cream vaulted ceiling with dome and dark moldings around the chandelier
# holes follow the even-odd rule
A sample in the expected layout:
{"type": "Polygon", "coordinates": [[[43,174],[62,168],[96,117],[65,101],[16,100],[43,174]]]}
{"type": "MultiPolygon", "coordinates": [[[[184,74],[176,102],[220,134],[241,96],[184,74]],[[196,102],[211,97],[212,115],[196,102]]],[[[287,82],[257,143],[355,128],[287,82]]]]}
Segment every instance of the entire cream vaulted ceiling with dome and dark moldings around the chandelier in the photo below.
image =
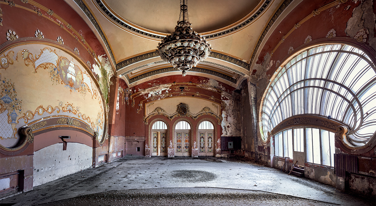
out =
{"type": "MultiPolygon", "coordinates": [[[[155,53],[161,38],[173,32],[179,20],[179,0],[83,2],[109,44],[111,52],[108,56],[113,54],[117,75],[129,86],[181,74],[168,70],[171,65],[155,53]]],[[[253,50],[280,2],[188,0],[188,16],[193,30],[206,37],[212,45],[212,55],[187,74],[207,76],[233,86],[249,76],[248,63],[253,50]]]]}

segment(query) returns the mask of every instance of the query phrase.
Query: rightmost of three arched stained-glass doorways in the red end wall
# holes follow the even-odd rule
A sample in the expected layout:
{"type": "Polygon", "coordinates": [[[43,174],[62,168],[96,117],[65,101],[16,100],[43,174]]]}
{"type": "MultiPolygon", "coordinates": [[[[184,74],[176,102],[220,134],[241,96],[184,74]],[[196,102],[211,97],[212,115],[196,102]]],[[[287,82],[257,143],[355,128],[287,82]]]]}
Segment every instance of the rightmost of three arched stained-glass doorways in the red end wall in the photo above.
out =
{"type": "Polygon", "coordinates": [[[214,156],[214,126],[203,121],[198,129],[199,156],[214,156]]]}

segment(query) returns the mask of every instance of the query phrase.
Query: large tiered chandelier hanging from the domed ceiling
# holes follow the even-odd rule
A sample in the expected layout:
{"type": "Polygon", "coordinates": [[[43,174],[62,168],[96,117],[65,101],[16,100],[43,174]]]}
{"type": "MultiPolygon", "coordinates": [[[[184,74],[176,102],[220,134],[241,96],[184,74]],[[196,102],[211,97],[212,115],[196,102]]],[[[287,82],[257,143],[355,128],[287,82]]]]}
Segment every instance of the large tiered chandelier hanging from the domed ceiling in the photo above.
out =
{"type": "Polygon", "coordinates": [[[162,60],[181,70],[183,76],[210,54],[211,45],[205,37],[193,31],[189,23],[187,0],[180,0],[180,17],[175,31],[164,37],[157,48],[162,60]]]}

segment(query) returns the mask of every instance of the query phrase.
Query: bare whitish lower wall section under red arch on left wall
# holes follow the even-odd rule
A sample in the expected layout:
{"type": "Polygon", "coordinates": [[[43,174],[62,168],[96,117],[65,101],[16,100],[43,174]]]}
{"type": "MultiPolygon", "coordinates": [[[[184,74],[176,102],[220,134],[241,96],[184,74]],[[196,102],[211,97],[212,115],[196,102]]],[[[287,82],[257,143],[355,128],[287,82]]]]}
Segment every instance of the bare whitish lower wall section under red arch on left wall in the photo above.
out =
{"type": "Polygon", "coordinates": [[[90,146],[68,142],[67,150],[63,143],[56,143],[34,152],[34,183],[38,186],[90,168],[92,166],[90,146]]]}

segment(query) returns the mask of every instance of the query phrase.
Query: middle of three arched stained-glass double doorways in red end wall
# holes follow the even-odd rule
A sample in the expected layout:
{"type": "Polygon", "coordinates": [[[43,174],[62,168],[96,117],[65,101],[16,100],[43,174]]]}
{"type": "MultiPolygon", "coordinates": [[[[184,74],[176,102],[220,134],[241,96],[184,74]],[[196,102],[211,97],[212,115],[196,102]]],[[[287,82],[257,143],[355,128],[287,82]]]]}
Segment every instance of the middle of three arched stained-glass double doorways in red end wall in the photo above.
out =
{"type": "Polygon", "coordinates": [[[186,121],[175,125],[175,156],[191,156],[191,126],[186,121]]]}

